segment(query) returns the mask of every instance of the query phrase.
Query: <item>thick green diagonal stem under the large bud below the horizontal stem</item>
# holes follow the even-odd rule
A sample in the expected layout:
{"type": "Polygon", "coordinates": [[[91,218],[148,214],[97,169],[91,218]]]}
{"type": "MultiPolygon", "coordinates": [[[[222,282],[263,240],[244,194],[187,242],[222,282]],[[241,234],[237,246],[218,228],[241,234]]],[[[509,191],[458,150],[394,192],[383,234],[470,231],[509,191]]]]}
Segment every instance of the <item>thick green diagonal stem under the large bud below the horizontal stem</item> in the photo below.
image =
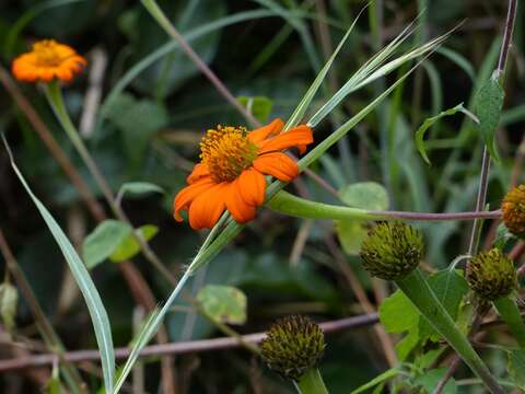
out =
{"type": "Polygon", "coordinates": [[[503,394],[503,389],[498,384],[465,335],[459,332],[419,268],[397,280],[396,285],[410,299],[421,315],[428,320],[430,325],[456,350],[472,372],[483,381],[487,389],[493,394],[503,394]]]}

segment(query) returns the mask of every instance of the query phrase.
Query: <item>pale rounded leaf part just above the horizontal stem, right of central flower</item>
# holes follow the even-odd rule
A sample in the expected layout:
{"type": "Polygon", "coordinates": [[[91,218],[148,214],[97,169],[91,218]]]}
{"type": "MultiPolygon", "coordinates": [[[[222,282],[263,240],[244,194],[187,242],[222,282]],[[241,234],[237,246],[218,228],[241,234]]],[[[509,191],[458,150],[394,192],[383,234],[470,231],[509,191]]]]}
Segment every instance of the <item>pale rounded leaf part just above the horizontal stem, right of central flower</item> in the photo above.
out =
{"type": "Polygon", "coordinates": [[[339,193],[342,202],[350,207],[385,210],[388,208],[388,194],[383,185],[375,182],[360,182],[342,187],[339,193]]]}

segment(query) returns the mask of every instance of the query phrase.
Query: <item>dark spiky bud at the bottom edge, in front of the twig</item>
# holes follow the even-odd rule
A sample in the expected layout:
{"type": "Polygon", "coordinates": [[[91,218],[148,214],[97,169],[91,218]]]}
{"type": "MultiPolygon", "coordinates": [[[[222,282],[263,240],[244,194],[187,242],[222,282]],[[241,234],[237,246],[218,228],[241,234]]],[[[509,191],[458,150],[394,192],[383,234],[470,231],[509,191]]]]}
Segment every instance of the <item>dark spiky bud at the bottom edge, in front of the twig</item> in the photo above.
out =
{"type": "Polygon", "coordinates": [[[260,345],[268,368],[293,381],[299,381],[317,364],[324,349],[323,331],[304,316],[288,316],[277,321],[260,345]]]}

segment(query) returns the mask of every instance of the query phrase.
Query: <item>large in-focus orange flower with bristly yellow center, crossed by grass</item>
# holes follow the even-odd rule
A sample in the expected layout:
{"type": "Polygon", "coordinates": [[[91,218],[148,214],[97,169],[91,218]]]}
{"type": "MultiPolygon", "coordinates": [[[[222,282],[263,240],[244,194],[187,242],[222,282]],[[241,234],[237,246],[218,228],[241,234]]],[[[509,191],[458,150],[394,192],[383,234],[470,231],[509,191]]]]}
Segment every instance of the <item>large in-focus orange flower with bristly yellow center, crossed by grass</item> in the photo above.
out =
{"type": "Polygon", "coordinates": [[[225,209],[238,223],[254,219],[265,201],[265,175],[290,182],[299,174],[295,161],[282,150],[295,147],[304,153],[313,142],[308,126],[281,134],[283,126],[276,119],[252,132],[222,126],[208,130],[200,142],[201,161],[175,197],[175,219],[182,221],[180,210],[188,210],[195,230],[211,229],[225,209]]]}

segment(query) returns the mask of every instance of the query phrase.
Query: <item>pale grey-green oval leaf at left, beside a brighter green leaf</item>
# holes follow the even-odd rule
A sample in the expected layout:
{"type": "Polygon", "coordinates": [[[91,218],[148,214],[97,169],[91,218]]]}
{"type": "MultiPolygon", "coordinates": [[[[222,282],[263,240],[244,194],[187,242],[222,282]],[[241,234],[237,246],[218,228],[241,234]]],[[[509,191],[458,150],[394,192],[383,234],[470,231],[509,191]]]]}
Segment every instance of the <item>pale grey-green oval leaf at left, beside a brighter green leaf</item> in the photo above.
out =
{"type": "Polygon", "coordinates": [[[82,257],[89,269],[109,257],[131,234],[132,229],[118,220],[104,220],[84,240],[82,257]]]}

